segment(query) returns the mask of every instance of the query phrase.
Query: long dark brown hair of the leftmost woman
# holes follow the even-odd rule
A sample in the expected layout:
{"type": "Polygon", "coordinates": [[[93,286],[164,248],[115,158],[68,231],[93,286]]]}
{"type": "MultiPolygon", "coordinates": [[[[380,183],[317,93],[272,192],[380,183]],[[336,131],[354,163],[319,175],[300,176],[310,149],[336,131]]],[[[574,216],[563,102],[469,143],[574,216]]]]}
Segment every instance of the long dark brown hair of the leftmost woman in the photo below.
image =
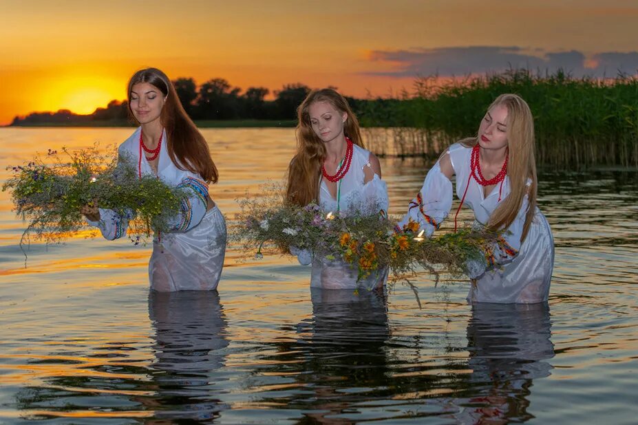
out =
{"type": "Polygon", "coordinates": [[[137,123],[131,111],[131,91],[138,83],[149,83],[164,94],[166,101],[160,113],[160,122],[167,134],[167,150],[171,161],[182,170],[199,174],[208,183],[217,183],[219,174],[211,158],[211,151],[206,139],[189,118],[182,102],[178,98],[173,83],[166,74],[157,68],[140,69],[129,80],[127,96],[129,96],[129,115],[137,123]]]}

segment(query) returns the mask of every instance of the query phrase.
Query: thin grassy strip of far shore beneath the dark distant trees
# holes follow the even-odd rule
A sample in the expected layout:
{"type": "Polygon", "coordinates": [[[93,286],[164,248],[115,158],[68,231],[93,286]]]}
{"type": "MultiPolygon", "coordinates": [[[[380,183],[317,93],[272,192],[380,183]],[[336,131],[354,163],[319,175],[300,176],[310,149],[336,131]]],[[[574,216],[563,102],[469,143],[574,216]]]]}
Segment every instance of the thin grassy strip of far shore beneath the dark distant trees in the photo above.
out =
{"type": "MultiPolygon", "coordinates": [[[[201,129],[237,129],[237,128],[293,128],[297,120],[195,120],[201,129]]],[[[128,120],[103,120],[90,122],[38,122],[25,124],[8,124],[5,128],[19,127],[136,127],[128,120]]]]}

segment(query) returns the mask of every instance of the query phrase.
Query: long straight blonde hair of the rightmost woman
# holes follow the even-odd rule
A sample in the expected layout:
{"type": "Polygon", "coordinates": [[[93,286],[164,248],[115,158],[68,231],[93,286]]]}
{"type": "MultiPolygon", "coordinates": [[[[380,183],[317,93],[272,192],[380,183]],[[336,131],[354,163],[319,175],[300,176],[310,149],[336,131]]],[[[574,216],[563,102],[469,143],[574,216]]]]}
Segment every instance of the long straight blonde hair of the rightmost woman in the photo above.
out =
{"type": "MultiPolygon", "coordinates": [[[[534,158],[534,118],[527,102],[518,95],[502,94],[489,105],[488,110],[496,105],[507,107],[507,146],[509,149],[507,177],[510,193],[489,217],[488,226],[493,230],[508,228],[518,215],[523,198],[527,194],[529,206],[520,238],[522,243],[527,237],[536,210],[538,186],[534,158]],[[529,186],[527,186],[527,179],[531,179],[529,186]]],[[[468,147],[474,147],[478,143],[478,137],[461,140],[461,143],[468,147]]]]}

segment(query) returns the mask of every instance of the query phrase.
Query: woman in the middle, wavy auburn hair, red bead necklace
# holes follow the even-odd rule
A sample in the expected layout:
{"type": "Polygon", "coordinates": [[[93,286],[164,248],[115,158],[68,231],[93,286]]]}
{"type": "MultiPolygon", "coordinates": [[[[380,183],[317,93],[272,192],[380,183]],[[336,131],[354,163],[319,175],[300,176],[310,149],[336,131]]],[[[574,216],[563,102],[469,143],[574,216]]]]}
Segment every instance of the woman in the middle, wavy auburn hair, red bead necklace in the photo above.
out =
{"type": "MultiPolygon", "coordinates": [[[[297,109],[297,154],[288,168],[286,201],[319,205],[323,213],[379,214],[387,211],[387,187],[379,160],[363,149],[359,122],[348,102],[333,89],[310,92],[297,109]]],[[[372,289],[385,283],[387,272],[357,282],[358,270],[321,255],[299,252],[299,262],[312,262],[311,287],[372,289]]]]}

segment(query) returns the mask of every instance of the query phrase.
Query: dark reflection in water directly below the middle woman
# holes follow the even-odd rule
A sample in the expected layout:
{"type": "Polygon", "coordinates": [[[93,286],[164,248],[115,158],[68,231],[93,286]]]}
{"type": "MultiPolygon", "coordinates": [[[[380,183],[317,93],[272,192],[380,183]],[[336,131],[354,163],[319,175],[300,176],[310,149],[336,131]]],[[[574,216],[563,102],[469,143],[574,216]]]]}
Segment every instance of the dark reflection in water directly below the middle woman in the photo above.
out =
{"type": "Polygon", "coordinates": [[[311,290],[312,327],[306,341],[312,350],[303,376],[313,383],[308,413],[319,423],[350,423],[340,415],[352,404],[379,397],[387,387],[385,342],[386,294],[383,290],[311,290]]]}

